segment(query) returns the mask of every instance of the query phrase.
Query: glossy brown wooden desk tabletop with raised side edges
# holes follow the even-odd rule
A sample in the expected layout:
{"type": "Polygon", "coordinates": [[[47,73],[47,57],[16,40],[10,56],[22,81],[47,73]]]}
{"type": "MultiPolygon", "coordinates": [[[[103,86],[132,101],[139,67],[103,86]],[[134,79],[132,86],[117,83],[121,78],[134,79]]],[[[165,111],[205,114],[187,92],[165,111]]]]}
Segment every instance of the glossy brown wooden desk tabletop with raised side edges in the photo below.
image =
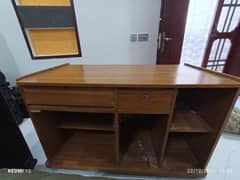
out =
{"type": "Polygon", "coordinates": [[[237,87],[237,77],[192,65],[64,64],[17,79],[19,86],[76,87],[237,87]]]}

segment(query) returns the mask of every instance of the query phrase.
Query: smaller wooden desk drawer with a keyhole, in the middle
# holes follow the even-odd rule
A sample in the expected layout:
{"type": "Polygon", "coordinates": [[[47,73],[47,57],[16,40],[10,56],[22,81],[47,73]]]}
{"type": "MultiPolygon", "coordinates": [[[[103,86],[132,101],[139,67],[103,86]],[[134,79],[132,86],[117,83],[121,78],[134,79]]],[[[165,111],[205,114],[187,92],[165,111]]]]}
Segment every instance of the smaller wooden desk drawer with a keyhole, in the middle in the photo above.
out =
{"type": "Polygon", "coordinates": [[[168,114],[175,90],[120,90],[118,110],[126,113],[168,114]]]}

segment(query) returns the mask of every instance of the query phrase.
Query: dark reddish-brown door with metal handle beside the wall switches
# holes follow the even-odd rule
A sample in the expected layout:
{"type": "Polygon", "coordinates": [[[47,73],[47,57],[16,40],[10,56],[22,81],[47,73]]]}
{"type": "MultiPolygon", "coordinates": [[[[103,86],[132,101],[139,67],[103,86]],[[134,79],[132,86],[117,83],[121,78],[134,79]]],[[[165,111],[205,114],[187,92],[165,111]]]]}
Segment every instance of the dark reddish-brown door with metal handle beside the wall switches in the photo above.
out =
{"type": "Polygon", "coordinates": [[[189,0],[162,0],[157,64],[179,64],[189,0]]]}

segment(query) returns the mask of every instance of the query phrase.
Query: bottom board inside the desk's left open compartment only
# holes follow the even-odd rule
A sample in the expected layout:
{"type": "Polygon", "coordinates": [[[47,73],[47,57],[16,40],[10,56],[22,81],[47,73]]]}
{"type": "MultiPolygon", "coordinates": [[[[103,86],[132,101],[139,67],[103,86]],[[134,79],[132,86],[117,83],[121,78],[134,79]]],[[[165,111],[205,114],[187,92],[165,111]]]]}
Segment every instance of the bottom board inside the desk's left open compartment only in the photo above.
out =
{"type": "Polygon", "coordinates": [[[87,167],[115,163],[115,137],[111,132],[73,131],[47,165],[87,167]]]}

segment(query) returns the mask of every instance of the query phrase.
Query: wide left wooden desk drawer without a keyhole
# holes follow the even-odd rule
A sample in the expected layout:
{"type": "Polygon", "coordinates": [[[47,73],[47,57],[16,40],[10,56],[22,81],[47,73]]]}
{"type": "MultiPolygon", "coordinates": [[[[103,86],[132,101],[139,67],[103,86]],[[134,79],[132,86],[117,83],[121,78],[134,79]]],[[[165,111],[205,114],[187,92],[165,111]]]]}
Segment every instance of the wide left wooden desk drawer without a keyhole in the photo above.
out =
{"type": "Polygon", "coordinates": [[[23,92],[27,104],[101,107],[114,105],[112,89],[27,87],[23,92]]]}

